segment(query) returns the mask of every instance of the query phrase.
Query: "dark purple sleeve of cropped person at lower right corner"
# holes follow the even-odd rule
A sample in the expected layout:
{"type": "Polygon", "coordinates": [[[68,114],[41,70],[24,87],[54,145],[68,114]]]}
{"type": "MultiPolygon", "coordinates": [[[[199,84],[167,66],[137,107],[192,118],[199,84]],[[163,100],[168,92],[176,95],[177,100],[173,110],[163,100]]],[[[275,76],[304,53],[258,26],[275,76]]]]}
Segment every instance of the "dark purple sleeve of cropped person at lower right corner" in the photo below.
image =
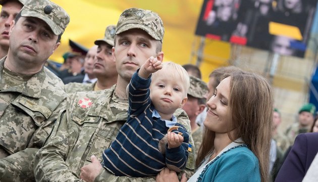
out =
{"type": "Polygon", "coordinates": [[[280,168],[275,181],[301,181],[305,176],[307,138],[299,134],[285,162],[280,168]]]}

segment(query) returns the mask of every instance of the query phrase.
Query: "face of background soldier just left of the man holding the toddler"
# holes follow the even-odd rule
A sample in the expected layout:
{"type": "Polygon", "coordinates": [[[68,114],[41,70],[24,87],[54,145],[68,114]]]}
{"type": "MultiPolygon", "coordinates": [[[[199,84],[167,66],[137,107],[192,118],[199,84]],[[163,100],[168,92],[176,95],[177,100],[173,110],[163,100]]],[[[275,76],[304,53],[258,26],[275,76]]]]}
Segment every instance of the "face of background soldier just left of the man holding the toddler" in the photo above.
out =
{"type": "Polygon", "coordinates": [[[118,75],[116,63],[112,56],[112,48],[107,43],[100,43],[98,45],[93,73],[97,77],[114,77],[118,75]]]}

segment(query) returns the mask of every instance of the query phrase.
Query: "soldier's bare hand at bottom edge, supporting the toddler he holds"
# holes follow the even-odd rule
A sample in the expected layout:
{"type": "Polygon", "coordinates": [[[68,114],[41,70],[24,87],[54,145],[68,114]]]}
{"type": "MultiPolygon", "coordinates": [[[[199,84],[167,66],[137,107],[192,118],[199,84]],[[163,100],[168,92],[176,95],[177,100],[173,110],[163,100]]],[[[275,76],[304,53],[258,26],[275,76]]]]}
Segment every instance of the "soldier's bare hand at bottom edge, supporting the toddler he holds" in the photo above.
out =
{"type": "Polygon", "coordinates": [[[84,179],[87,182],[93,182],[99,172],[102,170],[102,166],[96,156],[92,155],[90,157],[90,160],[92,161],[91,164],[85,165],[81,168],[81,179],[84,179]]]}

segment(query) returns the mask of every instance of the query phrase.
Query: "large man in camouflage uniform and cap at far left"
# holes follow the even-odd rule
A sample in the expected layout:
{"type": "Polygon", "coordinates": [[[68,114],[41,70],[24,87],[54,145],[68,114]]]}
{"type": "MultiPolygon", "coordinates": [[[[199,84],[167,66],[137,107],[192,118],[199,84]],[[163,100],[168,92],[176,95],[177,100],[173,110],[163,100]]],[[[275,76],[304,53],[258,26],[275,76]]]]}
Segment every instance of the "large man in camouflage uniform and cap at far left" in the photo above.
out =
{"type": "Polygon", "coordinates": [[[66,105],[63,82],[43,67],[69,16],[47,0],[29,1],[10,28],[0,60],[0,179],[32,181],[33,158],[66,105]]]}

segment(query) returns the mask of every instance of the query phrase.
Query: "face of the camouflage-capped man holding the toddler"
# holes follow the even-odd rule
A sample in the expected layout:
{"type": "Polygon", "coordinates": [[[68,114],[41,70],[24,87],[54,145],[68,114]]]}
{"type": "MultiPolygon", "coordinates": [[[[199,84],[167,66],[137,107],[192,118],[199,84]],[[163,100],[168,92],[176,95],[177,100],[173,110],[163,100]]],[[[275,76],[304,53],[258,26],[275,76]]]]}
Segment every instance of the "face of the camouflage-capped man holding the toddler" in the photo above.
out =
{"type": "Polygon", "coordinates": [[[117,35],[113,57],[118,74],[129,81],[134,72],[151,56],[163,61],[163,52],[156,53],[157,41],[138,28],[117,35]]]}

